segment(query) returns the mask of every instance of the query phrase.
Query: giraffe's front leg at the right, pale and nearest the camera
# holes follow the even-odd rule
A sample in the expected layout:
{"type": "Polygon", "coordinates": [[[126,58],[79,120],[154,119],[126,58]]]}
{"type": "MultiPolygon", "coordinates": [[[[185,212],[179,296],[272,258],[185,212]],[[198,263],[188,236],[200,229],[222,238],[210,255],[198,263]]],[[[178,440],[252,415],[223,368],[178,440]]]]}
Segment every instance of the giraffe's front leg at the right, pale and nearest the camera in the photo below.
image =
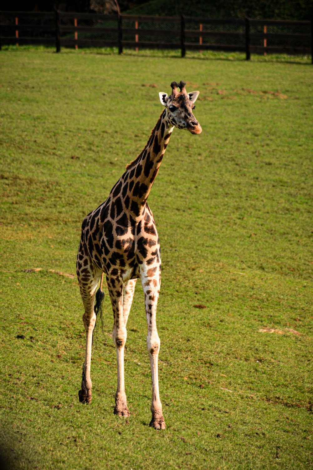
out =
{"type": "Polygon", "coordinates": [[[145,292],[145,312],[148,324],[147,349],[149,352],[151,379],[152,379],[152,420],[150,426],[155,429],[165,429],[165,420],[162,413],[162,405],[159,394],[158,356],[160,351],[160,338],[156,327],[156,309],[160,292],[160,267],[149,268],[141,276],[143,290],[145,292]],[[150,274],[150,276],[148,275],[150,274]]]}

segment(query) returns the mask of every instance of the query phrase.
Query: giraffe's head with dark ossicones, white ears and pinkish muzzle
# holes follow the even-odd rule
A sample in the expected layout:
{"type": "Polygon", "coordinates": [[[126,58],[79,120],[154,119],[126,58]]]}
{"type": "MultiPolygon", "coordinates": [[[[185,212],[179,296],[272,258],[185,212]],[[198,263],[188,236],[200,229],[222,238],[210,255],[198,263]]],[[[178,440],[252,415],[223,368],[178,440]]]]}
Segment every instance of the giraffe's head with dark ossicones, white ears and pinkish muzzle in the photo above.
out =
{"type": "Polygon", "coordinates": [[[169,124],[178,127],[178,129],[187,129],[192,134],[199,134],[202,129],[192,112],[199,92],[187,93],[185,86],[185,82],[182,81],[180,83],[172,82],[172,93],[168,96],[168,94],[160,92],[160,102],[166,108],[169,124]]]}

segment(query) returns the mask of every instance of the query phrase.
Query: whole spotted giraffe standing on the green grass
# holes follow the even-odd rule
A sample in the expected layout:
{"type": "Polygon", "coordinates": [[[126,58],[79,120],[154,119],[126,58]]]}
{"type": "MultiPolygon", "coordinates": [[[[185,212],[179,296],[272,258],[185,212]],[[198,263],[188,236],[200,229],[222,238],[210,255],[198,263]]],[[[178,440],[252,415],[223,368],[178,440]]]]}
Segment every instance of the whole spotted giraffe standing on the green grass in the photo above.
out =
{"type": "Polygon", "coordinates": [[[183,81],[179,84],[172,82],[170,95],[159,93],[160,102],[165,106],[165,110],[161,113],[145,148],[126,166],[126,171],[112,188],[107,200],[90,212],[83,221],[76,265],[84,304],[83,322],[86,333],[79,400],[90,403],[92,399],[90,377],[92,332],[96,324],[96,313],[104,296],[101,286],[105,274],[113,309],[112,337],[117,357],[114,413],[119,416],[130,415],[124,385],[124,346],[135,284],[140,278],[145,294],[148,327],[146,342],[152,376],[150,426],[155,429],[165,429],[158,382],[160,338],[156,327],[161,258],[160,241],[147,198],[174,127],[187,129],[192,134],[199,134],[202,131],[192,112],[199,92],[187,93],[185,85],[183,81]],[[96,295],[100,278],[101,285],[96,295]],[[96,305],[94,305],[95,298],[96,305]]]}

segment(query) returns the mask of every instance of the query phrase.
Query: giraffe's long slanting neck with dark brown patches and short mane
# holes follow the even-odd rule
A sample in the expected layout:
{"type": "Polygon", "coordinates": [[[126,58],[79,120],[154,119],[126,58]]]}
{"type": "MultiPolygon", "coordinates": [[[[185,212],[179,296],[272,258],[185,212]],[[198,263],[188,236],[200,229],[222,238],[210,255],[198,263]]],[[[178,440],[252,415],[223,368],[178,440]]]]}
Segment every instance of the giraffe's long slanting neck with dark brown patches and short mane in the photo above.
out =
{"type": "Polygon", "coordinates": [[[159,171],[173,128],[173,125],[168,123],[167,113],[164,110],[145,148],[127,167],[129,186],[127,196],[123,199],[126,201],[129,197],[129,212],[134,219],[141,219],[145,211],[145,203],[159,171]]]}

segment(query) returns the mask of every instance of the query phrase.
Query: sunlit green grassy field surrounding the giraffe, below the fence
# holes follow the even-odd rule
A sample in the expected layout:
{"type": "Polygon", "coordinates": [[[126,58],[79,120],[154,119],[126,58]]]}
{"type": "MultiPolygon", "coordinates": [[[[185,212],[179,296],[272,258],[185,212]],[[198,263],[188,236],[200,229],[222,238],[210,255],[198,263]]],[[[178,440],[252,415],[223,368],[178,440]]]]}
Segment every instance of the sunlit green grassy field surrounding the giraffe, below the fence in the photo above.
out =
{"type": "Polygon", "coordinates": [[[45,51],[1,51],[0,61],[7,467],[312,468],[312,66],[45,51]],[[72,275],[84,216],[145,145],[158,92],[181,79],[200,90],[203,132],[175,129],[149,196],[163,268],[158,432],[139,285],[130,418],[113,415],[108,295],[92,405],[78,402],[84,327],[72,275]]]}

